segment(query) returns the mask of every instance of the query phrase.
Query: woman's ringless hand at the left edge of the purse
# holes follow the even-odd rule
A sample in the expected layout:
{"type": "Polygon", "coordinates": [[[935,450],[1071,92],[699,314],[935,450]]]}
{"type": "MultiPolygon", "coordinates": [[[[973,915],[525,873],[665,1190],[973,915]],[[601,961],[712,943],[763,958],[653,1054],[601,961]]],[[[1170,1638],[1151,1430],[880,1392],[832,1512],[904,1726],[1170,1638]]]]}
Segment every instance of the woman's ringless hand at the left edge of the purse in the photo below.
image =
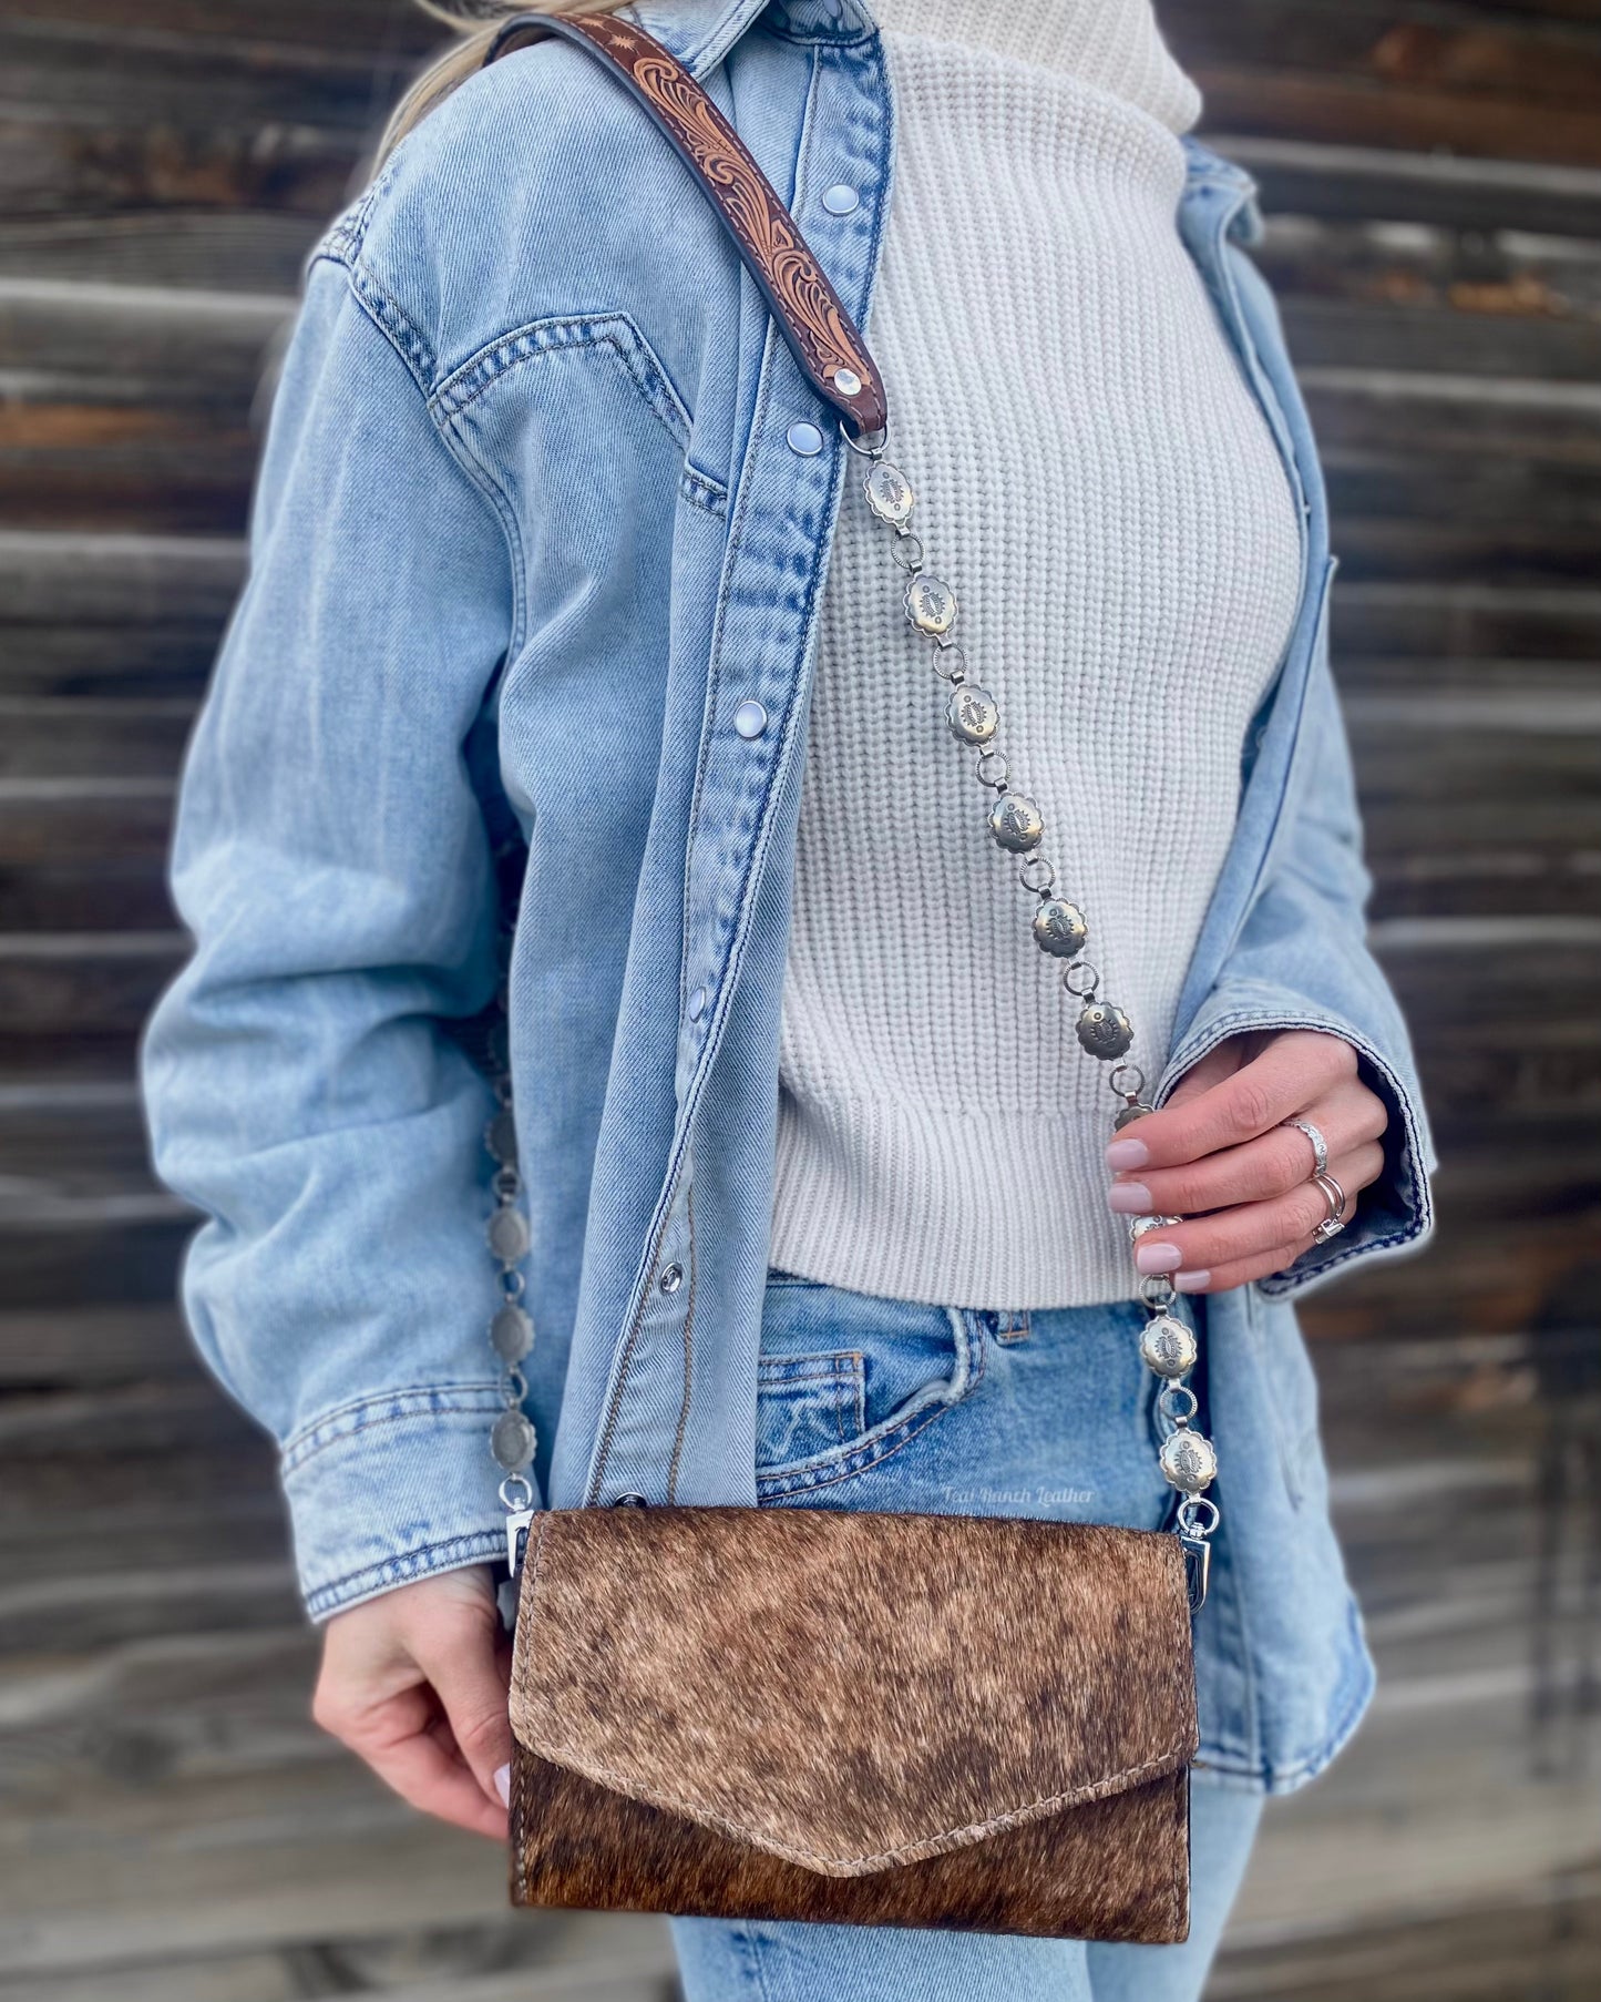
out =
{"type": "Polygon", "coordinates": [[[424,1814],[506,1840],[510,1646],[486,1566],[336,1614],[312,1718],[424,1814]]]}

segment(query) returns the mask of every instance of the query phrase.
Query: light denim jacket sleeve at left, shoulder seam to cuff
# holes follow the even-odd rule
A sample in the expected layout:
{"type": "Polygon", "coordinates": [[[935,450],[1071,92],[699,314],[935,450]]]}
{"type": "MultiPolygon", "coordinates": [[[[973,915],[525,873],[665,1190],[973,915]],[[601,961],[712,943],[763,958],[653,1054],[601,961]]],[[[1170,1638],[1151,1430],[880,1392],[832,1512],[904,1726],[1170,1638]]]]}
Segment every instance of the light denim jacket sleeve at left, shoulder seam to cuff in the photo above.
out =
{"type": "Polygon", "coordinates": [[[206,1215],[188,1319],[280,1443],[312,1614],[502,1542],[492,1105],[442,1021],[496,985],[466,741],[516,593],[424,380],[398,310],[318,258],[182,781],[194,955],[144,1043],[156,1169],[206,1215]]]}

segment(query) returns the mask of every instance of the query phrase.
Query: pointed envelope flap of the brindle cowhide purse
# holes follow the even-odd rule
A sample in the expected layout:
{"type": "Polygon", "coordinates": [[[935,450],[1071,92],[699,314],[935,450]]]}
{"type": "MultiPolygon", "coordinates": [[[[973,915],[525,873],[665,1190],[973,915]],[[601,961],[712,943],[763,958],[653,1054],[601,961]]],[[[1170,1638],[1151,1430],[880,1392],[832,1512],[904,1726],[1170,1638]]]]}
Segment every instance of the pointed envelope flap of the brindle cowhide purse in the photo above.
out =
{"type": "Polygon", "coordinates": [[[867,1876],[1189,1764],[1183,1550],[963,1516],[552,1512],[510,1722],[598,1786],[867,1876]]]}

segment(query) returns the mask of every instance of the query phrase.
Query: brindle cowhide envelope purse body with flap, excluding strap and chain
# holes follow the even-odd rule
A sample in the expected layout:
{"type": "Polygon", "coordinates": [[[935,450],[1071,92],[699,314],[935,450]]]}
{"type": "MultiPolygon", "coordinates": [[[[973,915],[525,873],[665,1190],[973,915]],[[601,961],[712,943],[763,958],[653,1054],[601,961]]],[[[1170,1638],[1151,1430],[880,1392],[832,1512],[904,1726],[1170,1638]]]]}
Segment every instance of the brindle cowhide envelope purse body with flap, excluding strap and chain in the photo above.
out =
{"type": "Polygon", "coordinates": [[[518,1904],[1189,1930],[1195,1672],[1173,1536],[548,1514],[510,1720],[518,1904]]]}

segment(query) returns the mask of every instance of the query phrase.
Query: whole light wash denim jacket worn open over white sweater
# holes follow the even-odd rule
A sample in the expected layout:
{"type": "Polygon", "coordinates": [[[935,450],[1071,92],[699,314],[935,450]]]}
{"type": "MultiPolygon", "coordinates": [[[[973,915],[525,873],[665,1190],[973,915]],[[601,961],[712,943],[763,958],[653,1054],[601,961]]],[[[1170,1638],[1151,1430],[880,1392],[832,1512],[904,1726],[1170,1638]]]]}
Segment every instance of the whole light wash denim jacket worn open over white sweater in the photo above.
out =
{"type": "MultiPolygon", "coordinates": [[[[895,118],[867,8],[630,14],[732,116],[871,334],[895,118]],[[849,214],[821,202],[837,182],[849,214]]],[[[1183,238],[1301,494],[1305,585],[1161,1091],[1237,1031],[1329,1029],[1393,1121],[1347,1233],[1207,1309],[1227,1538],[1201,1676],[1237,1722],[1205,1756],[1287,1788],[1371,1678],[1289,1295],[1415,1243],[1433,1161],[1363,943],[1329,525],[1241,250],[1251,194],[1191,146],[1183,238]]],[[[676,154],[562,42],[468,82],[312,260],[182,785],[196,949],[144,1077],[158,1171],[208,1215],[186,1309],[282,1445],[314,1618],[504,1550],[492,1101],[440,1029],[498,981],[494,781],[530,843],[510,1023],[544,1497],[754,1501],[801,759],[847,460],[676,154]],[[732,727],[752,699],[754,739],[732,727]]]]}

